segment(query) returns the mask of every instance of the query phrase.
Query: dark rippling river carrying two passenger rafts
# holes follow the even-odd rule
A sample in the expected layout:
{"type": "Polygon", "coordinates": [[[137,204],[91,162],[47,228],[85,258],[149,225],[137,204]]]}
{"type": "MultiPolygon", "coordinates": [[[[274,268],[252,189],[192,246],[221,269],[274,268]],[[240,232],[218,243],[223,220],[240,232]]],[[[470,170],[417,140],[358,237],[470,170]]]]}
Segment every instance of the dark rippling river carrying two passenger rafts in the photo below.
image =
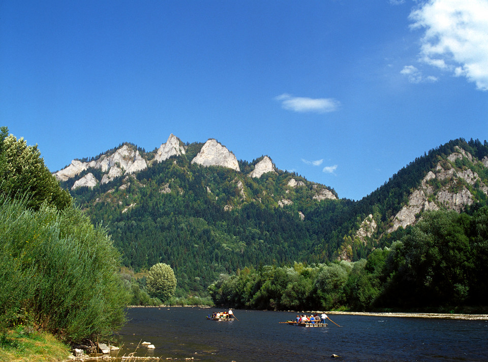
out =
{"type": "MultiPolygon", "coordinates": [[[[205,317],[212,308],[131,308],[119,331],[118,356],[214,362],[488,361],[488,321],[330,314],[339,326],[279,323],[293,312],[235,310],[238,320],[205,317]],[[147,349],[141,342],[150,342],[147,349]],[[137,346],[139,347],[137,348],[137,346]]],[[[113,353],[113,352],[112,352],[113,353]]]]}

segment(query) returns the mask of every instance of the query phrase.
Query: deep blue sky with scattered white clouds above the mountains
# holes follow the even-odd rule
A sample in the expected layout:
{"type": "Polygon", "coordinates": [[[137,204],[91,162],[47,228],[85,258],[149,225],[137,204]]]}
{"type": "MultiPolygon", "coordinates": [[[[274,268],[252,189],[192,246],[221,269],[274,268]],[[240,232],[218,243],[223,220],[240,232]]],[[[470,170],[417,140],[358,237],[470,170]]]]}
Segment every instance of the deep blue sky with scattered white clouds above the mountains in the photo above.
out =
{"type": "Polygon", "coordinates": [[[46,166],[172,133],[358,200],[488,139],[488,0],[0,2],[0,118],[46,166]]]}

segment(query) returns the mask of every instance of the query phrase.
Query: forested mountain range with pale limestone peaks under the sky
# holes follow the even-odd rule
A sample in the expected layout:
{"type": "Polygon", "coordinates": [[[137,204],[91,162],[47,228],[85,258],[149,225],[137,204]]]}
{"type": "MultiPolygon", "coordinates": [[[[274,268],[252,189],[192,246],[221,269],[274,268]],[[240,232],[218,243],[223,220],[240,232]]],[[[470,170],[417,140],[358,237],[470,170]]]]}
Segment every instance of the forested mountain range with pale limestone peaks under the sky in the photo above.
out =
{"type": "Polygon", "coordinates": [[[269,156],[237,160],[215,139],[185,144],[174,135],[154,151],[121,144],[54,175],[108,227],[126,266],[166,262],[179,288],[199,291],[244,267],[357,260],[423,212],[486,205],[488,145],[450,141],[357,202],[269,156]]]}

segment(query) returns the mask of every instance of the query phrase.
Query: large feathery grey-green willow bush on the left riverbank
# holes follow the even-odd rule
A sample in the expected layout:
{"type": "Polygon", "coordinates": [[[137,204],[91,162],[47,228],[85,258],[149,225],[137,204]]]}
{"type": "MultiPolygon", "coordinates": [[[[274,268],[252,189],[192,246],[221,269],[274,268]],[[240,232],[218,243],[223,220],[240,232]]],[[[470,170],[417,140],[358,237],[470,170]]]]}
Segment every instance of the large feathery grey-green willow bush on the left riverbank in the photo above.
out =
{"type": "Polygon", "coordinates": [[[34,324],[76,342],[125,321],[119,255],[80,210],[0,200],[0,328],[34,324]]]}

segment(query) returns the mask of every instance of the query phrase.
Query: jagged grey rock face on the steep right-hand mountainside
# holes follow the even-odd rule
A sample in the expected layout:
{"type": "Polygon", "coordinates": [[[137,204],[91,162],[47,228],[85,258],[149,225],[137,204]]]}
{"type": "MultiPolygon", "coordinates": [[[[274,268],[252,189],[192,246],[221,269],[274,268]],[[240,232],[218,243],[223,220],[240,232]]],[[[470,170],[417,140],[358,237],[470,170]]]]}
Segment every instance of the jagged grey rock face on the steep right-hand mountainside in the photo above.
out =
{"type": "MultiPolygon", "coordinates": [[[[457,158],[462,159],[463,157],[473,161],[473,156],[469,152],[457,146],[456,151],[447,157],[450,162],[454,162],[457,158]]],[[[393,225],[388,229],[387,233],[395,231],[400,226],[405,228],[408,225],[414,224],[416,222],[415,215],[421,211],[439,210],[440,207],[444,207],[448,210],[461,212],[467,205],[473,204],[473,195],[466,186],[463,186],[461,189],[456,187],[457,181],[460,179],[471,186],[477,184],[482,192],[488,194],[488,187],[481,181],[476,172],[470,169],[457,171],[452,167],[445,169],[442,167],[441,162],[439,162],[435,173],[430,171],[423,178],[420,188],[414,190],[409,196],[408,204],[395,215],[393,225]],[[429,181],[435,178],[447,183],[436,190],[433,186],[429,185],[429,181]],[[452,191],[452,189],[456,189],[456,191],[452,191]]]]}

